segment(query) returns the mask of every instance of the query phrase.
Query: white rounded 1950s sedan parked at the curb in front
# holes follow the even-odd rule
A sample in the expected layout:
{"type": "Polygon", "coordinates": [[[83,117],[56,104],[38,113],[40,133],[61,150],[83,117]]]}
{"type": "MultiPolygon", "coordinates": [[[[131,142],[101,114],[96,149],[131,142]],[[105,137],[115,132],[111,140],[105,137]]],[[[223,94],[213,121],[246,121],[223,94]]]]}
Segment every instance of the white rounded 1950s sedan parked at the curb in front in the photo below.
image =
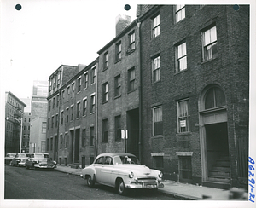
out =
{"type": "Polygon", "coordinates": [[[128,188],[163,188],[163,174],[160,170],[140,165],[137,157],[131,153],[102,153],[93,164],[82,170],[81,177],[89,187],[95,183],[117,188],[118,193],[127,193],[128,188]]]}

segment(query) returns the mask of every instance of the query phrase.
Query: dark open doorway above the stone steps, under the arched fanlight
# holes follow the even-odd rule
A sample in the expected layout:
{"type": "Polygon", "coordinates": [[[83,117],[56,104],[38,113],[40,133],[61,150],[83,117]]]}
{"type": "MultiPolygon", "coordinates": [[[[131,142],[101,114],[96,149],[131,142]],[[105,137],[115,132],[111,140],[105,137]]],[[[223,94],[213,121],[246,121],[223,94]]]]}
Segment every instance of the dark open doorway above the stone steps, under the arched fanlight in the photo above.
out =
{"type": "Polygon", "coordinates": [[[207,124],[207,168],[212,169],[212,165],[220,157],[229,157],[229,142],[227,123],[207,124]]]}

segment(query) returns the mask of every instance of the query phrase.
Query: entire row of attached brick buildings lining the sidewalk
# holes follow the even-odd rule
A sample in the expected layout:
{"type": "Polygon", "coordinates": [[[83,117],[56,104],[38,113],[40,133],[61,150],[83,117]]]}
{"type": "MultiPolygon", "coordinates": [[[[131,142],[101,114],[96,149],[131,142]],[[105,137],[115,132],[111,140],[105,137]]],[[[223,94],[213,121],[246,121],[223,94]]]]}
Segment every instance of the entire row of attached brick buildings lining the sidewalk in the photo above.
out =
{"type": "Polygon", "coordinates": [[[247,5],[137,5],[96,61],[50,76],[46,152],[75,167],[134,153],[166,179],[247,188],[248,51],[247,5]]]}

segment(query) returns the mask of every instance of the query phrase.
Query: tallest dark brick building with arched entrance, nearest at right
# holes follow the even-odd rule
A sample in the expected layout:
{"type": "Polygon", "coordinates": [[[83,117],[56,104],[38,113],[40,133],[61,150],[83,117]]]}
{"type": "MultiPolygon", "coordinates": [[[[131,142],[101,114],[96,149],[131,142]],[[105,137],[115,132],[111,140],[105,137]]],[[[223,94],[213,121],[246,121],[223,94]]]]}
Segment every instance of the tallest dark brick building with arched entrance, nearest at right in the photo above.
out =
{"type": "Polygon", "coordinates": [[[137,15],[143,164],[181,182],[247,184],[249,7],[138,5],[137,15]]]}

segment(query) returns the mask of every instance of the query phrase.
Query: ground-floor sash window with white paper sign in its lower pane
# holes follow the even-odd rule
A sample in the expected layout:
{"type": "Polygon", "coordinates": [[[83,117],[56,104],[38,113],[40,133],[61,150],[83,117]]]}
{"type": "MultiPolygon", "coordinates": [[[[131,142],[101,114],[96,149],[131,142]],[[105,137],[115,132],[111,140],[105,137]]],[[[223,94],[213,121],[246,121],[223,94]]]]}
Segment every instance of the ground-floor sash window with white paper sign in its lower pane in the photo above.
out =
{"type": "Polygon", "coordinates": [[[189,131],[189,100],[177,102],[177,133],[189,131]]]}

